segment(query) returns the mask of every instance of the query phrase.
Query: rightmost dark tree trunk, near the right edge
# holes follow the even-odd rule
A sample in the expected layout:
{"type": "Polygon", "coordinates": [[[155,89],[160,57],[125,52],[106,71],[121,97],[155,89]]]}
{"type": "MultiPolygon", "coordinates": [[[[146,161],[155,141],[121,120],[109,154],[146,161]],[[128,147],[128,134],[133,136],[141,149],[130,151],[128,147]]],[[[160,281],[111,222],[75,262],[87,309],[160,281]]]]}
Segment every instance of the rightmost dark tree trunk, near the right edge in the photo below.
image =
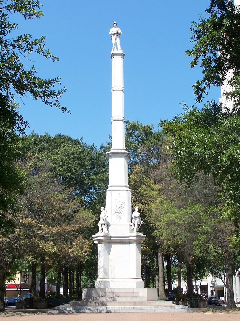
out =
{"type": "Polygon", "coordinates": [[[226,248],[224,253],[226,264],[226,288],[227,288],[227,308],[236,309],[233,292],[233,259],[231,251],[226,248]]]}

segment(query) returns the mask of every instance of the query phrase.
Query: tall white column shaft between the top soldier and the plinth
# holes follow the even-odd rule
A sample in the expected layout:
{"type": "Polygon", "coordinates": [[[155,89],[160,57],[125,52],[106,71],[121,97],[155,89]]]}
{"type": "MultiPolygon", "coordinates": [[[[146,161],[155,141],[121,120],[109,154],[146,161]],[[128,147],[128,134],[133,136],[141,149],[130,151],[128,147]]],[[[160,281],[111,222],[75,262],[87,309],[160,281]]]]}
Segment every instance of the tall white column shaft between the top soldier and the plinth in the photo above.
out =
{"type": "Polygon", "coordinates": [[[109,185],[106,196],[106,211],[109,215],[109,233],[131,232],[131,192],[128,186],[127,160],[124,136],[124,80],[123,52],[113,52],[112,59],[112,148],[107,153],[109,160],[109,185]]]}

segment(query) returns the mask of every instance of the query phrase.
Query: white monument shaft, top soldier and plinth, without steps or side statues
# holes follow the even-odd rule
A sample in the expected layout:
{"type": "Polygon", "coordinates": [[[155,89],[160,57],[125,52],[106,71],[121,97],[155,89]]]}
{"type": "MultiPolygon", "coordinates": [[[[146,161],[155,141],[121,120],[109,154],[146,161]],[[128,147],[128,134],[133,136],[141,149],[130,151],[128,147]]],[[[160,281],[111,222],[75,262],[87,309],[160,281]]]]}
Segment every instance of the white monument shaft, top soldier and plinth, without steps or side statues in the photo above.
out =
{"type": "MultiPolygon", "coordinates": [[[[122,32],[113,23],[112,41],[119,42],[122,32]]],[[[115,45],[116,45],[115,43],[115,45]]],[[[118,45],[118,43],[117,43],[118,45]]],[[[120,47],[121,48],[121,47],[120,47]]],[[[118,49],[120,49],[118,48],[118,49]]],[[[95,288],[144,288],[141,279],[141,248],[145,235],[133,232],[131,191],[128,186],[129,152],[124,143],[124,53],[113,47],[112,59],[112,146],[109,160],[109,185],[106,194],[108,233],[93,235],[98,246],[98,278],[95,288]]],[[[132,290],[131,290],[132,291],[132,290]]]]}

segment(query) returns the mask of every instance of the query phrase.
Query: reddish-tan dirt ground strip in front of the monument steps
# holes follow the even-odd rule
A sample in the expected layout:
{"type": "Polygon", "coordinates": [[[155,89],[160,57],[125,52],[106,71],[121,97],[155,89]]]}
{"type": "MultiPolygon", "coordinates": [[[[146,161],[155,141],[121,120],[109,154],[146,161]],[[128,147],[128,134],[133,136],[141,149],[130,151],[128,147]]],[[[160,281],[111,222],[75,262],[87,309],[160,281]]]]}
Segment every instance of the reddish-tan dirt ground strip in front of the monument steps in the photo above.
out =
{"type": "Polygon", "coordinates": [[[240,312],[76,313],[5,312],[1,321],[240,321],[240,312]]]}

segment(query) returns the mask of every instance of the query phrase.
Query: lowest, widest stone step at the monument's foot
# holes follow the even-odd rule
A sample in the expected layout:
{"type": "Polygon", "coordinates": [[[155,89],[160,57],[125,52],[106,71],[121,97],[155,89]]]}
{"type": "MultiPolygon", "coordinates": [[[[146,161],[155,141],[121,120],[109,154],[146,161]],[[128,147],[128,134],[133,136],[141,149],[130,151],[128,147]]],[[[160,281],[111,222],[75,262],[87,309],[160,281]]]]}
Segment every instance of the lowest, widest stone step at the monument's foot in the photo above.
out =
{"type": "Polygon", "coordinates": [[[68,305],[58,306],[48,313],[123,313],[123,312],[193,312],[187,306],[108,306],[108,307],[70,307],[68,305]]]}

